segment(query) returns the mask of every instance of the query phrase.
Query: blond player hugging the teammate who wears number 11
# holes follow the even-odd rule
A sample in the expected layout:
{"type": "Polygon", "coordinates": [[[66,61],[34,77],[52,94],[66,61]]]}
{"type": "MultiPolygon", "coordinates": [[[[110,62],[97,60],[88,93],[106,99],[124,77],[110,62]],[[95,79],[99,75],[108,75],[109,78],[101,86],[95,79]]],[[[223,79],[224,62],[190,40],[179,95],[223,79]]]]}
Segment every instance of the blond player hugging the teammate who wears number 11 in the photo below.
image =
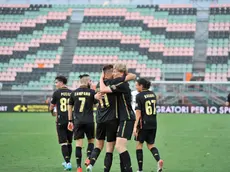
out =
{"type": "MultiPolygon", "coordinates": [[[[113,77],[119,78],[127,73],[125,64],[115,64],[113,77]]],[[[132,165],[129,152],[127,151],[127,141],[131,139],[135,114],[132,110],[132,95],[127,82],[106,86],[103,81],[103,74],[100,79],[100,90],[104,93],[116,93],[118,101],[119,126],[116,138],[116,149],[120,154],[121,171],[132,172],[132,165]]]]}

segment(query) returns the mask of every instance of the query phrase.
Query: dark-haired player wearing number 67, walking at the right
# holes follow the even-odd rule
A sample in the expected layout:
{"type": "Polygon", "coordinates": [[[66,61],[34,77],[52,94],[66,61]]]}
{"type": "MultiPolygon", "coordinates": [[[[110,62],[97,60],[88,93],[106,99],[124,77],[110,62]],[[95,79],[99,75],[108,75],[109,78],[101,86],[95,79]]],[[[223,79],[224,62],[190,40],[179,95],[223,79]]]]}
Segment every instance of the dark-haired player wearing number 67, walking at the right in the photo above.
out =
{"type": "Polygon", "coordinates": [[[136,156],[138,162],[138,172],[142,172],[143,167],[143,143],[147,143],[148,149],[158,162],[157,172],[161,172],[163,168],[163,160],[160,159],[159,152],[155,147],[155,137],[157,131],[157,111],[156,95],[149,91],[151,83],[144,78],[140,78],[136,82],[136,89],[139,92],[136,96],[136,121],[133,134],[136,137],[136,156]]]}

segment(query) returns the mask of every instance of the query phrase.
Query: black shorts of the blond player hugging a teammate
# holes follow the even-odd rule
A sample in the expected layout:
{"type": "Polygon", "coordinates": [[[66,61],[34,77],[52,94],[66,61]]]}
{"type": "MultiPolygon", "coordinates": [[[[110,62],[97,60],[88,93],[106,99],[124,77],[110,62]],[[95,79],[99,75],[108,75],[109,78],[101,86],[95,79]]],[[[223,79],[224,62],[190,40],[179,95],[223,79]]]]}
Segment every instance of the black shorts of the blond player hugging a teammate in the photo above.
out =
{"type": "Polygon", "coordinates": [[[130,140],[133,134],[134,122],[135,121],[120,121],[117,130],[117,137],[130,140]]]}

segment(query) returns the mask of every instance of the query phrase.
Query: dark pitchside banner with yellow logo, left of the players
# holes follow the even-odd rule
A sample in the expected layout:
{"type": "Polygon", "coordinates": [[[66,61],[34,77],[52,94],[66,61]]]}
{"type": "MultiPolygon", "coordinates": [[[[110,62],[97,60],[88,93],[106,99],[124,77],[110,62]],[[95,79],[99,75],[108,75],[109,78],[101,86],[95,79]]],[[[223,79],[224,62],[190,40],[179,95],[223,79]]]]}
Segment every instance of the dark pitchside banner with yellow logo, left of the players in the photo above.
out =
{"type": "Polygon", "coordinates": [[[47,104],[0,104],[0,112],[49,112],[47,104]]]}

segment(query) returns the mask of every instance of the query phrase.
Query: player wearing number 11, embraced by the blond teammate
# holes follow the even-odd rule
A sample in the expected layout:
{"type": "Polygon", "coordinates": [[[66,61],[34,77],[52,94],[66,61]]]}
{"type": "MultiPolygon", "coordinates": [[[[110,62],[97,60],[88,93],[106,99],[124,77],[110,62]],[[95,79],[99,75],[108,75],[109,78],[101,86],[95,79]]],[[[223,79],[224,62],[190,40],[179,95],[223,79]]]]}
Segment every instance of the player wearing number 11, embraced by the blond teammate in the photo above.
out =
{"type": "MultiPolygon", "coordinates": [[[[135,74],[127,74],[120,78],[113,79],[113,65],[105,65],[103,67],[104,82],[106,85],[118,84],[120,82],[134,80],[135,74]]],[[[97,85],[97,91],[100,91],[100,84],[97,85]]],[[[104,94],[99,97],[99,106],[97,110],[97,129],[96,129],[96,148],[93,150],[90,163],[87,167],[87,171],[92,171],[92,167],[95,164],[101,150],[104,147],[105,138],[106,143],[106,155],[104,159],[104,172],[109,172],[112,166],[113,151],[116,141],[116,134],[118,129],[118,102],[117,95],[115,93],[104,94]]]]}

